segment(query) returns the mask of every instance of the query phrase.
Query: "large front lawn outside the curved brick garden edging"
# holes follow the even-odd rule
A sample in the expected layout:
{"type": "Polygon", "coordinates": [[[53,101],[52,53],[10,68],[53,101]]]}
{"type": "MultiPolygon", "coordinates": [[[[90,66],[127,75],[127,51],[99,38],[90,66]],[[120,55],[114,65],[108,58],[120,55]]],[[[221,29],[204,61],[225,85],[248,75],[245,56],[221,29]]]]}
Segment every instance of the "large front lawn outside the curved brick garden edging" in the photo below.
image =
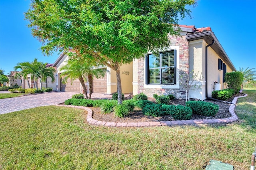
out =
{"type": "Polygon", "coordinates": [[[229,125],[113,128],[88,125],[83,110],[38,107],[0,115],[0,169],[205,169],[210,159],[250,168],[256,90],[238,99],[229,125]]]}

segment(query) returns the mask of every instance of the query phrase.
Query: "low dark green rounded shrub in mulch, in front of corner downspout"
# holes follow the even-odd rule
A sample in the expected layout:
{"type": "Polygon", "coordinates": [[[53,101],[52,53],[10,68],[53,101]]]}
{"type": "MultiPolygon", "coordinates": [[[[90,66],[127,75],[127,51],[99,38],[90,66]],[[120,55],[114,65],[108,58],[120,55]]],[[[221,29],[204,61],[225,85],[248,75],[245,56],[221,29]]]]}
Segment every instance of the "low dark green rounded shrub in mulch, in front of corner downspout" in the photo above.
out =
{"type": "Polygon", "coordinates": [[[219,111],[218,105],[205,101],[188,101],[186,106],[192,109],[193,114],[203,116],[215,116],[219,111]]]}

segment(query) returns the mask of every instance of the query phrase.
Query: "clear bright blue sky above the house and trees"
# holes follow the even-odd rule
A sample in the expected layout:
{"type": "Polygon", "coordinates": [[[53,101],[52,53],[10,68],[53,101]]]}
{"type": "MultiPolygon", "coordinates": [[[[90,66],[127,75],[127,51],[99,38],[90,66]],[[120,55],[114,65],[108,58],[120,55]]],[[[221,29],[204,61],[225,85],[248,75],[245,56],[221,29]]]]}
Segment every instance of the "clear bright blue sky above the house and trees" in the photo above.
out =
{"type": "MultiPolygon", "coordinates": [[[[0,68],[5,74],[18,62],[54,63],[59,54],[44,56],[41,43],[31,35],[24,12],[30,0],[0,0],[0,68]]],[[[256,68],[256,0],[198,0],[192,19],[180,21],[196,28],[208,27],[218,38],[236,69],[256,68]]]]}

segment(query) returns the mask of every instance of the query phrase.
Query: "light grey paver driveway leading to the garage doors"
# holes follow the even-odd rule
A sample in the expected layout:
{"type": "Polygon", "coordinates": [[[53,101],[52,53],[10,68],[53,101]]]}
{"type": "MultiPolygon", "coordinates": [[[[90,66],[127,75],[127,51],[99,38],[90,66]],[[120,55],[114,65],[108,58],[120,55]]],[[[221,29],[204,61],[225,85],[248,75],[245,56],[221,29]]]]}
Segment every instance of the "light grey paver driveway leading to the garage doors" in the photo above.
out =
{"type": "MultiPolygon", "coordinates": [[[[29,109],[29,108],[39,107],[39,106],[48,106],[48,105],[63,103],[66,99],[70,99],[74,94],[77,94],[77,93],[52,92],[52,93],[40,93],[35,95],[26,95],[26,96],[12,97],[7,99],[0,99],[0,114],[10,113],[14,111],[21,111],[24,109],[29,109]]],[[[103,95],[103,94],[100,94],[100,95],[103,95]]],[[[96,97],[96,94],[92,95],[92,97],[93,96],[96,97]]],[[[106,96],[106,98],[108,98],[108,96],[106,96]]]]}

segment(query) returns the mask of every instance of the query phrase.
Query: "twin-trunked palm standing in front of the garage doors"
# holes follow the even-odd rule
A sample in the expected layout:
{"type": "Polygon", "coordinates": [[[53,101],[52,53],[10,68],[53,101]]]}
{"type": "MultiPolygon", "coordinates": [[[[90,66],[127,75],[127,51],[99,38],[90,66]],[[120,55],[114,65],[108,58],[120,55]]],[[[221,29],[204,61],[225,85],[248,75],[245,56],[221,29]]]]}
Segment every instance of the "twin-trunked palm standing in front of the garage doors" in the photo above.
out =
{"type": "Polygon", "coordinates": [[[66,77],[63,79],[63,82],[66,82],[68,78],[71,79],[71,82],[75,79],[79,79],[83,87],[86,99],[88,99],[87,88],[84,84],[84,80],[87,80],[86,77],[88,77],[89,99],[91,99],[93,77],[95,76],[96,78],[99,78],[100,76],[103,77],[105,74],[103,69],[93,69],[92,62],[85,61],[83,59],[69,59],[67,64],[60,68],[60,71],[64,71],[62,74],[66,75],[66,77]]]}

